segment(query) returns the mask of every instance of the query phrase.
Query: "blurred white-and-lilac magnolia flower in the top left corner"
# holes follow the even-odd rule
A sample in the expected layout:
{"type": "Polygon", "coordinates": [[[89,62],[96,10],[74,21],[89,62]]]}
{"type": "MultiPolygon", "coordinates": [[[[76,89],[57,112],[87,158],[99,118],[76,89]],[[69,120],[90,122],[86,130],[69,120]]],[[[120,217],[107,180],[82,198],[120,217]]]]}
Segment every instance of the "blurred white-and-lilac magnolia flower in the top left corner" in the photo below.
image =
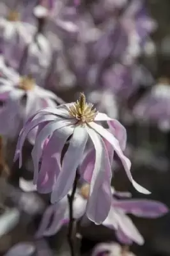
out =
{"type": "MultiPolygon", "coordinates": [[[[3,4],[2,4],[3,5],[3,4]]],[[[0,50],[4,58],[14,67],[19,68],[20,60],[27,47],[31,43],[36,32],[36,27],[25,20],[29,8],[20,10],[8,10],[4,5],[5,17],[0,19],[1,44],[0,50]]]]}

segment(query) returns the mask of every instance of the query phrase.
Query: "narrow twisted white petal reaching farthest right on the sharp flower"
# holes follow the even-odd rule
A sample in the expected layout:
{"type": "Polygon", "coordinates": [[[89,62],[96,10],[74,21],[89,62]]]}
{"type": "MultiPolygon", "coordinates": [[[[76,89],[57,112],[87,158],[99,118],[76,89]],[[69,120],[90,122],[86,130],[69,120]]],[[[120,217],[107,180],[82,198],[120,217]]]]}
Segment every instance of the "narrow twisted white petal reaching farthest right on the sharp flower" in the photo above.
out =
{"type": "Polygon", "coordinates": [[[137,191],[139,191],[140,193],[143,193],[146,195],[150,194],[150,191],[143,188],[141,185],[139,185],[137,182],[135,182],[135,180],[132,178],[132,174],[130,173],[130,167],[131,167],[130,160],[126,156],[123,155],[123,152],[120,148],[120,144],[119,144],[118,140],[116,140],[116,138],[114,138],[114,136],[111,134],[111,132],[104,129],[104,127],[102,127],[101,125],[95,124],[94,122],[89,123],[89,125],[95,131],[97,131],[102,137],[104,137],[105,140],[107,140],[107,141],[109,141],[109,143],[111,143],[112,147],[116,151],[116,154],[118,154],[118,156],[120,157],[121,163],[123,164],[123,167],[125,168],[125,172],[127,173],[127,177],[132,182],[134,188],[137,191]]]}

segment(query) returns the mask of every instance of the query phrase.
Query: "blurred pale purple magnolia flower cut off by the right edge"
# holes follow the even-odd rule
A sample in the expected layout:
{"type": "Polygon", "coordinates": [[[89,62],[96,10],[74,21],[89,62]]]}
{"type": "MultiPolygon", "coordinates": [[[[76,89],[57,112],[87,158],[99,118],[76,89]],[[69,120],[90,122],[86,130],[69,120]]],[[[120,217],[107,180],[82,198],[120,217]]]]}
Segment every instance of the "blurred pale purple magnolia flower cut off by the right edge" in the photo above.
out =
{"type": "Polygon", "coordinates": [[[134,116],[144,121],[155,122],[162,131],[170,129],[170,87],[167,79],[153,86],[151,92],[137,102],[134,116]]]}

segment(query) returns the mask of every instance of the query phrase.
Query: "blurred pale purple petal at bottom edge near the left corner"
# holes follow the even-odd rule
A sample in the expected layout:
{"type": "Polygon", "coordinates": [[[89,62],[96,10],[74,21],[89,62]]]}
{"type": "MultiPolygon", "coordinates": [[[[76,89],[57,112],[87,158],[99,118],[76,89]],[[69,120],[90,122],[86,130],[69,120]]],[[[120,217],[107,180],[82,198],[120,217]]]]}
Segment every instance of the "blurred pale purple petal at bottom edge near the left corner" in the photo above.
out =
{"type": "Polygon", "coordinates": [[[33,243],[23,242],[15,244],[4,256],[33,256],[35,250],[33,243]]]}

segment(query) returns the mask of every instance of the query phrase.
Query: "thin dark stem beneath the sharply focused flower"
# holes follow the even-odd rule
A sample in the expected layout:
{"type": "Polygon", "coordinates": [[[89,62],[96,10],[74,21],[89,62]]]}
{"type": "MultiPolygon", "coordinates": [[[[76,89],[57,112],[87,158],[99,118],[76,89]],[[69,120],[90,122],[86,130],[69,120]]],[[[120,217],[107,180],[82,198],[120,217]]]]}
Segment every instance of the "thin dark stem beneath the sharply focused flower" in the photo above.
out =
{"type": "Polygon", "coordinates": [[[77,188],[77,183],[78,183],[79,175],[76,172],[75,175],[75,180],[73,182],[73,190],[72,194],[68,195],[68,205],[69,205],[69,224],[68,224],[68,244],[70,246],[70,252],[71,256],[76,255],[76,246],[75,246],[75,236],[76,236],[76,221],[73,218],[73,200],[75,196],[75,191],[77,188]]]}

